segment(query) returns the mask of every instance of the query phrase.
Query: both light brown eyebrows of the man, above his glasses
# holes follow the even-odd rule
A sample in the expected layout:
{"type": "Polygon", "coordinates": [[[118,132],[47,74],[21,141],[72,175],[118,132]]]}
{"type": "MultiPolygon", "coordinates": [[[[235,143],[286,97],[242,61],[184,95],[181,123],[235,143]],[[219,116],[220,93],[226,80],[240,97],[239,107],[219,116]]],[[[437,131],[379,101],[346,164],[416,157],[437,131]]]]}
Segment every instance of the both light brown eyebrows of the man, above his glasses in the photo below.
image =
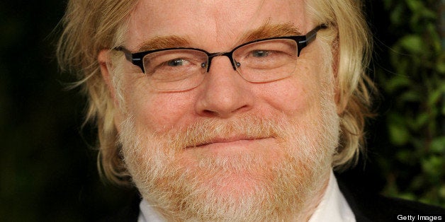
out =
{"type": "MultiPolygon", "coordinates": [[[[246,33],[244,33],[244,35],[240,37],[239,43],[242,44],[269,37],[292,35],[301,35],[301,32],[299,28],[295,27],[291,23],[270,24],[269,22],[266,22],[259,28],[248,30],[246,33]]],[[[174,47],[191,47],[191,41],[189,41],[187,37],[181,37],[178,35],[156,36],[138,45],[137,52],[174,47]]]]}

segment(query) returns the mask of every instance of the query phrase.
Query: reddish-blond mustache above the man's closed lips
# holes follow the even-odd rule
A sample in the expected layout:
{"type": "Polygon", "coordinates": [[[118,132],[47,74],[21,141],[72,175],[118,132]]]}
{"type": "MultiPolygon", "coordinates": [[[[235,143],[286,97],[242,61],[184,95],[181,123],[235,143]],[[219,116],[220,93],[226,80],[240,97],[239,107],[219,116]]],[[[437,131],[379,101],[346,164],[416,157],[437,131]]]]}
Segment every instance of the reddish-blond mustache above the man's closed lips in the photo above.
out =
{"type": "Polygon", "coordinates": [[[154,136],[166,141],[169,148],[192,148],[227,139],[283,138],[288,123],[257,115],[242,115],[234,119],[202,119],[187,127],[155,132],[154,136]]]}

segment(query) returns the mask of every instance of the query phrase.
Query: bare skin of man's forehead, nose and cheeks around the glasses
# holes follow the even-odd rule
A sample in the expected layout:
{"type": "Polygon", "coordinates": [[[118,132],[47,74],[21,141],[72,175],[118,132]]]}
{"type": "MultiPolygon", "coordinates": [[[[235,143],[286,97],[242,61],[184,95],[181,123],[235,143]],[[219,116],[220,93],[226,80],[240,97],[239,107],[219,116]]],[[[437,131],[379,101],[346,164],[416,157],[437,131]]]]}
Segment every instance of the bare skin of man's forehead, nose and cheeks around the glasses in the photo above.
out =
{"type": "MultiPolygon", "coordinates": [[[[259,12],[257,8],[261,1],[252,1],[252,4],[243,2],[211,1],[210,4],[210,1],[191,1],[184,4],[184,1],[140,1],[130,18],[125,46],[136,52],[140,43],[152,37],[179,35],[191,40],[192,47],[208,52],[225,52],[242,43],[233,40],[240,38],[246,30],[257,28],[268,20],[271,23],[291,22],[303,30],[302,33],[315,26],[305,20],[303,12],[293,13],[303,11],[303,4],[298,1],[290,3],[293,7],[266,1],[259,12]],[[181,16],[174,16],[177,14],[181,16]],[[249,28],[245,28],[246,23],[250,24],[249,28]],[[230,24],[240,25],[234,27],[230,24]]],[[[203,83],[185,92],[159,93],[150,90],[143,74],[124,75],[126,107],[128,112],[135,115],[136,122],[145,123],[143,125],[153,132],[187,126],[201,118],[230,119],[244,112],[264,116],[272,116],[276,112],[289,116],[313,113],[311,111],[317,107],[310,104],[313,99],[310,92],[320,90],[317,80],[321,72],[317,70],[320,67],[317,66],[320,64],[320,59],[317,59],[320,52],[317,52],[317,43],[314,43],[306,47],[298,58],[299,64],[304,64],[298,66],[299,74],[271,83],[244,81],[232,69],[227,57],[213,59],[203,83]]],[[[107,59],[105,52],[101,52],[98,58],[101,64],[108,62],[107,59]]],[[[140,69],[130,63],[125,64],[125,69],[129,73],[140,73],[140,69]]],[[[102,71],[109,79],[106,67],[102,66],[102,71]]]]}

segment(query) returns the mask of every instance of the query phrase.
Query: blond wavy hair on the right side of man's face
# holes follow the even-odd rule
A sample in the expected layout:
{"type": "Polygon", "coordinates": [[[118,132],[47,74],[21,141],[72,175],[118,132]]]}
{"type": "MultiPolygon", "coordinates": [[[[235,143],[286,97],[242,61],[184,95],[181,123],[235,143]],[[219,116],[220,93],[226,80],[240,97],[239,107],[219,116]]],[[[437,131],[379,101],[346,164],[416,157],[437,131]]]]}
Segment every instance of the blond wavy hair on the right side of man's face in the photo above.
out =
{"type": "Polygon", "coordinates": [[[366,69],[371,60],[372,38],[361,1],[305,1],[315,23],[327,24],[331,34],[334,73],[337,75],[340,115],[340,145],[332,166],[344,170],[355,165],[364,152],[366,117],[372,117],[370,90],[376,90],[366,69]]]}

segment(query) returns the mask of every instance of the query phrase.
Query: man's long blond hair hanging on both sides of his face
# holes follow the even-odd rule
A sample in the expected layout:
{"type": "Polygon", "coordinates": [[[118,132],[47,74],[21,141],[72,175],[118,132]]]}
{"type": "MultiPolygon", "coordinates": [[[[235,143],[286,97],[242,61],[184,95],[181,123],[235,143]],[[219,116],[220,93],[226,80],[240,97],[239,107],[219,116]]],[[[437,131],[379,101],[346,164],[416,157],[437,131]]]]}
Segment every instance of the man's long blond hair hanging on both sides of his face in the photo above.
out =
{"type": "MultiPolygon", "coordinates": [[[[100,73],[98,52],[122,44],[126,22],[137,4],[118,0],[69,1],[62,20],[64,30],[57,47],[57,57],[63,69],[75,70],[89,98],[86,120],[98,127],[98,168],[113,182],[125,182],[128,176],[116,143],[114,106],[110,92],[100,73]]],[[[307,1],[306,10],[312,21],[327,24],[333,69],[337,74],[341,115],[341,144],[332,166],[337,169],[354,165],[363,150],[364,119],[370,115],[371,98],[365,71],[371,54],[371,37],[357,0],[307,1]]]]}

